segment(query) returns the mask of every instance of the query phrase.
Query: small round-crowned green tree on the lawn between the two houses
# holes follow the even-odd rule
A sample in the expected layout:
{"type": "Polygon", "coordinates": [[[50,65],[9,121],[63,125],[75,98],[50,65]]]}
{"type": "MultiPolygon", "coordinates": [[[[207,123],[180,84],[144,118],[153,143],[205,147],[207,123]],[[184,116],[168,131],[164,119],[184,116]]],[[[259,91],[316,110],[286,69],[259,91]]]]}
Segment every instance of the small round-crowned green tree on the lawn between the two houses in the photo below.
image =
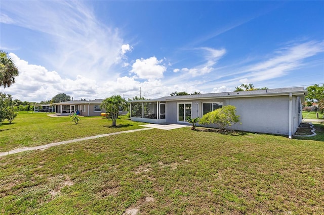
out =
{"type": "Polygon", "coordinates": [[[121,98],[120,95],[113,95],[103,100],[101,102],[100,108],[106,110],[106,113],[111,117],[112,126],[116,126],[119,109],[126,111],[128,104],[124,98],[121,98]]]}

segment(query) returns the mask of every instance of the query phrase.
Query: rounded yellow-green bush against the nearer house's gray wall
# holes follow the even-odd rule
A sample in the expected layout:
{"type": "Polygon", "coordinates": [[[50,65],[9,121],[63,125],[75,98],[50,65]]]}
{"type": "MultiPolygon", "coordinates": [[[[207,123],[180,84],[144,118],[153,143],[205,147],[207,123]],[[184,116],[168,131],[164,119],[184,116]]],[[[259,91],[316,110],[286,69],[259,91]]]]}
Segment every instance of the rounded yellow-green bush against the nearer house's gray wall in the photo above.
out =
{"type": "Polygon", "coordinates": [[[232,126],[240,121],[239,116],[236,115],[236,108],[233,105],[222,106],[220,109],[204,114],[199,120],[201,125],[216,124],[220,129],[232,126]]]}

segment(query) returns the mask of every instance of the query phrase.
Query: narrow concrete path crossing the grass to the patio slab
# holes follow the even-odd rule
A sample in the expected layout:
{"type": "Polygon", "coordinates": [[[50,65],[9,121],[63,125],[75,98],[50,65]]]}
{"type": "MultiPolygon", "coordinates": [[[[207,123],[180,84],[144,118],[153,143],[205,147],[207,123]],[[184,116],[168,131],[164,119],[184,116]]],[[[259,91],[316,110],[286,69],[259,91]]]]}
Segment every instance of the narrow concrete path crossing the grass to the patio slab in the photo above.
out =
{"type": "Polygon", "coordinates": [[[152,128],[141,128],[141,129],[134,129],[134,130],[129,130],[129,131],[119,131],[119,132],[110,133],[110,134],[100,134],[100,135],[91,136],[91,137],[84,137],[84,138],[73,139],[73,140],[65,140],[62,142],[49,143],[49,144],[38,145],[38,146],[34,146],[34,147],[16,148],[11,151],[0,152],[0,157],[8,155],[8,154],[15,154],[15,153],[23,152],[23,151],[32,151],[32,150],[39,150],[39,149],[44,150],[44,149],[47,149],[49,147],[56,146],[56,145],[63,145],[63,144],[74,143],[74,142],[79,142],[79,141],[83,141],[83,140],[90,140],[90,139],[96,139],[96,138],[100,138],[100,137],[112,136],[112,135],[116,135],[116,134],[131,133],[131,132],[135,132],[135,131],[144,131],[144,130],[150,130],[150,129],[152,129],[152,128]]]}

